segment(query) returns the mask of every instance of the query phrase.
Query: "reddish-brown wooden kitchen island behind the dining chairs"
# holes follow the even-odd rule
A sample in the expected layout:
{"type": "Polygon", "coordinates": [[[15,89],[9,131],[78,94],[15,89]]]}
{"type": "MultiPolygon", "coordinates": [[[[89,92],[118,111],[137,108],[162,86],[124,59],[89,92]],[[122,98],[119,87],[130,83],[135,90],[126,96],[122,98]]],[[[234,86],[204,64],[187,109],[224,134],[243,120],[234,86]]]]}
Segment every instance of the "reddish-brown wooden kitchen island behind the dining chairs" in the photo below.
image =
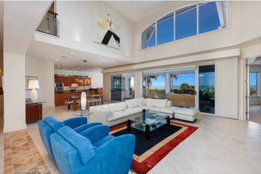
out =
{"type": "MultiPolygon", "coordinates": [[[[79,98],[81,97],[81,93],[86,92],[86,95],[103,95],[103,90],[102,89],[90,89],[90,90],[84,90],[84,91],[64,91],[61,93],[55,93],[54,94],[54,104],[55,106],[63,106],[64,101],[66,97],[71,97],[71,96],[78,96],[79,98]]],[[[102,104],[103,104],[103,97],[102,97],[102,104]]]]}

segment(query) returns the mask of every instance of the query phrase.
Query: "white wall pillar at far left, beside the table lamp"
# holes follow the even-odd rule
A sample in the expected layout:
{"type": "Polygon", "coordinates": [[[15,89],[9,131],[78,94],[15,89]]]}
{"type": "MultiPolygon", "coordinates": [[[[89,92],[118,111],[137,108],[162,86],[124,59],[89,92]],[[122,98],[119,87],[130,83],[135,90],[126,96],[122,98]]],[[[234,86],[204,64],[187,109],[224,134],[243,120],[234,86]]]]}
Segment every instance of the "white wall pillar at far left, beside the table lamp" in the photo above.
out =
{"type": "Polygon", "coordinates": [[[4,53],[4,67],[4,133],[7,133],[26,128],[25,56],[4,53]]]}

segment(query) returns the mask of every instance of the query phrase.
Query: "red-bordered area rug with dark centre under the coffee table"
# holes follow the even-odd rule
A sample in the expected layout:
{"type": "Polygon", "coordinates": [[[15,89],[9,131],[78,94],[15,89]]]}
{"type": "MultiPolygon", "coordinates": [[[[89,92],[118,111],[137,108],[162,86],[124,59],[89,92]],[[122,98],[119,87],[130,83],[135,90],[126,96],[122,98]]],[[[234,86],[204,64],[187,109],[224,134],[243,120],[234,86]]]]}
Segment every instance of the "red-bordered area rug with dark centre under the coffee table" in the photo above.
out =
{"type": "Polygon", "coordinates": [[[127,124],[110,128],[110,134],[120,136],[134,134],[136,137],[132,166],[136,173],[147,173],[160,160],[162,160],[173,148],[189,137],[198,127],[170,122],[150,133],[149,140],[145,138],[145,132],[132,128],[127,131],[127,124]]]}

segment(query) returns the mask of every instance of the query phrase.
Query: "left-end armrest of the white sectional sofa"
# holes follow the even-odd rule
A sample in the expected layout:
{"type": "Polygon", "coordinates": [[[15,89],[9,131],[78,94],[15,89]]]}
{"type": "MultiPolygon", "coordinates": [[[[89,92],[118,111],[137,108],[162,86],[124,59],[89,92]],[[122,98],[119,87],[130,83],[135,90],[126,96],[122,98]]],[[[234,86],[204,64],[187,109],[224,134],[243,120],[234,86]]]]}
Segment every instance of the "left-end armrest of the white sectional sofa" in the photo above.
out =
{"type": "Polygon", "coordinates": [[[101,107],[91,106],[90,112],[93,112],[90,115],[90,122],[100,122],[102,124],[108,124],[108,119],[113,117],[113,112],[111,110],[106,110],[101,107]]]}

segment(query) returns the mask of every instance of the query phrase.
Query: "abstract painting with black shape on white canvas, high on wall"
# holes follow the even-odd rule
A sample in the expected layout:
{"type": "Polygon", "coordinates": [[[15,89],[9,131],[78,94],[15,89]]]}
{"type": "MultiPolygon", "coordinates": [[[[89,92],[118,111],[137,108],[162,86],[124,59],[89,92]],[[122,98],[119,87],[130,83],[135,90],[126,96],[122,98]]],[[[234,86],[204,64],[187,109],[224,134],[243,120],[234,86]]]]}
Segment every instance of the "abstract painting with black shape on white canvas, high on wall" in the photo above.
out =
{"type": "Polygon", "coordinates": [[[93,41],[120,49],[120,21],[106,9],[94,6],[93,41]]]}

